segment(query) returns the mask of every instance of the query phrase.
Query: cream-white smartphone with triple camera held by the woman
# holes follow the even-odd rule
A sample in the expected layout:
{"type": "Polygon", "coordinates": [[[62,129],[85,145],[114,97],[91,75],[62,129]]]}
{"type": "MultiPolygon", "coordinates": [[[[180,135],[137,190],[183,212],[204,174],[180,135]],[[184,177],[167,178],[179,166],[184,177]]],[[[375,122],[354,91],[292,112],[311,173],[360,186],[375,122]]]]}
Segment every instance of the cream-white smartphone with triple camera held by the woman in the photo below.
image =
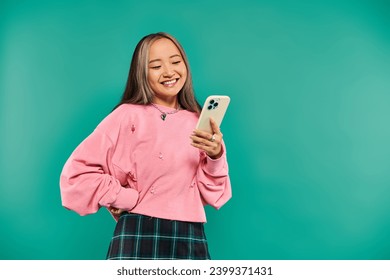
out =
{"type": "Polygon", "coordinates": [[[226,95],[211,95],[207,97],[202,112],[200,113],[196,129],[213,133],[210,125],[210,117],[221,126],[223,117],[230,103],[230,97],[226,95]]]}

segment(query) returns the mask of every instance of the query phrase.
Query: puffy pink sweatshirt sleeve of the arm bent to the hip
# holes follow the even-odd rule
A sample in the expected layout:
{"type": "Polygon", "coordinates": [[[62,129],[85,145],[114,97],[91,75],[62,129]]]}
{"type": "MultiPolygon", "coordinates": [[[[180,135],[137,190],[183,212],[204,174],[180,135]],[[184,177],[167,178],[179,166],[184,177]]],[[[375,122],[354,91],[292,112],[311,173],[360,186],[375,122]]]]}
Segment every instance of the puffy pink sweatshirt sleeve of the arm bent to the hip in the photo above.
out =
{"type": "Polygon", "coordinates": [[[121,186],[113,174],[114,145],[95,129],[71,154],[60,176],[62,205],[84,216],[100,207],[129,211],[137,204],[138,192],[121,186]]]}

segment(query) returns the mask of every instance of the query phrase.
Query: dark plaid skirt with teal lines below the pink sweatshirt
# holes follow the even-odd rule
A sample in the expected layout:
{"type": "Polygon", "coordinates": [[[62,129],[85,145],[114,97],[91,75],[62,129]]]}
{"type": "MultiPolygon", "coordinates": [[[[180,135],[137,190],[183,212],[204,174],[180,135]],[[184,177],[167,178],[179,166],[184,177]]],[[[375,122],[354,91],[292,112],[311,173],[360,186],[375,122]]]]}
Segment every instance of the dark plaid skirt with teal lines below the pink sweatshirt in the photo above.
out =
{"type": "Polygon", "coordinates": [[[124,212],[119,217],[108,260],[208,260],[203,223],[172,221],[124,212]]]}

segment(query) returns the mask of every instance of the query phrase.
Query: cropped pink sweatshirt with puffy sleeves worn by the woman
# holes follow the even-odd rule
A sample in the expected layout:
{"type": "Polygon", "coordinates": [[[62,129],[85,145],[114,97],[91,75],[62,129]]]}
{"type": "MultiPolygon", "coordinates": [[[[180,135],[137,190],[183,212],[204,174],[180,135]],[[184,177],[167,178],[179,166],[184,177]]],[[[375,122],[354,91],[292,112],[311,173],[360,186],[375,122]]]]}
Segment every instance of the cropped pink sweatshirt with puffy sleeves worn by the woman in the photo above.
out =
{"type": "Polygon", "coordinates": [[[80,215],[115,207],[206,222],[205,204],[216,209],[225,204],[231,198],[225,146],[224,154],[213,160],[190,145],[195,113],[181,110],[165,121],[160,114],[151,105],[133,104],[109,114],[65,163],[63,206],[80,215]]]}

